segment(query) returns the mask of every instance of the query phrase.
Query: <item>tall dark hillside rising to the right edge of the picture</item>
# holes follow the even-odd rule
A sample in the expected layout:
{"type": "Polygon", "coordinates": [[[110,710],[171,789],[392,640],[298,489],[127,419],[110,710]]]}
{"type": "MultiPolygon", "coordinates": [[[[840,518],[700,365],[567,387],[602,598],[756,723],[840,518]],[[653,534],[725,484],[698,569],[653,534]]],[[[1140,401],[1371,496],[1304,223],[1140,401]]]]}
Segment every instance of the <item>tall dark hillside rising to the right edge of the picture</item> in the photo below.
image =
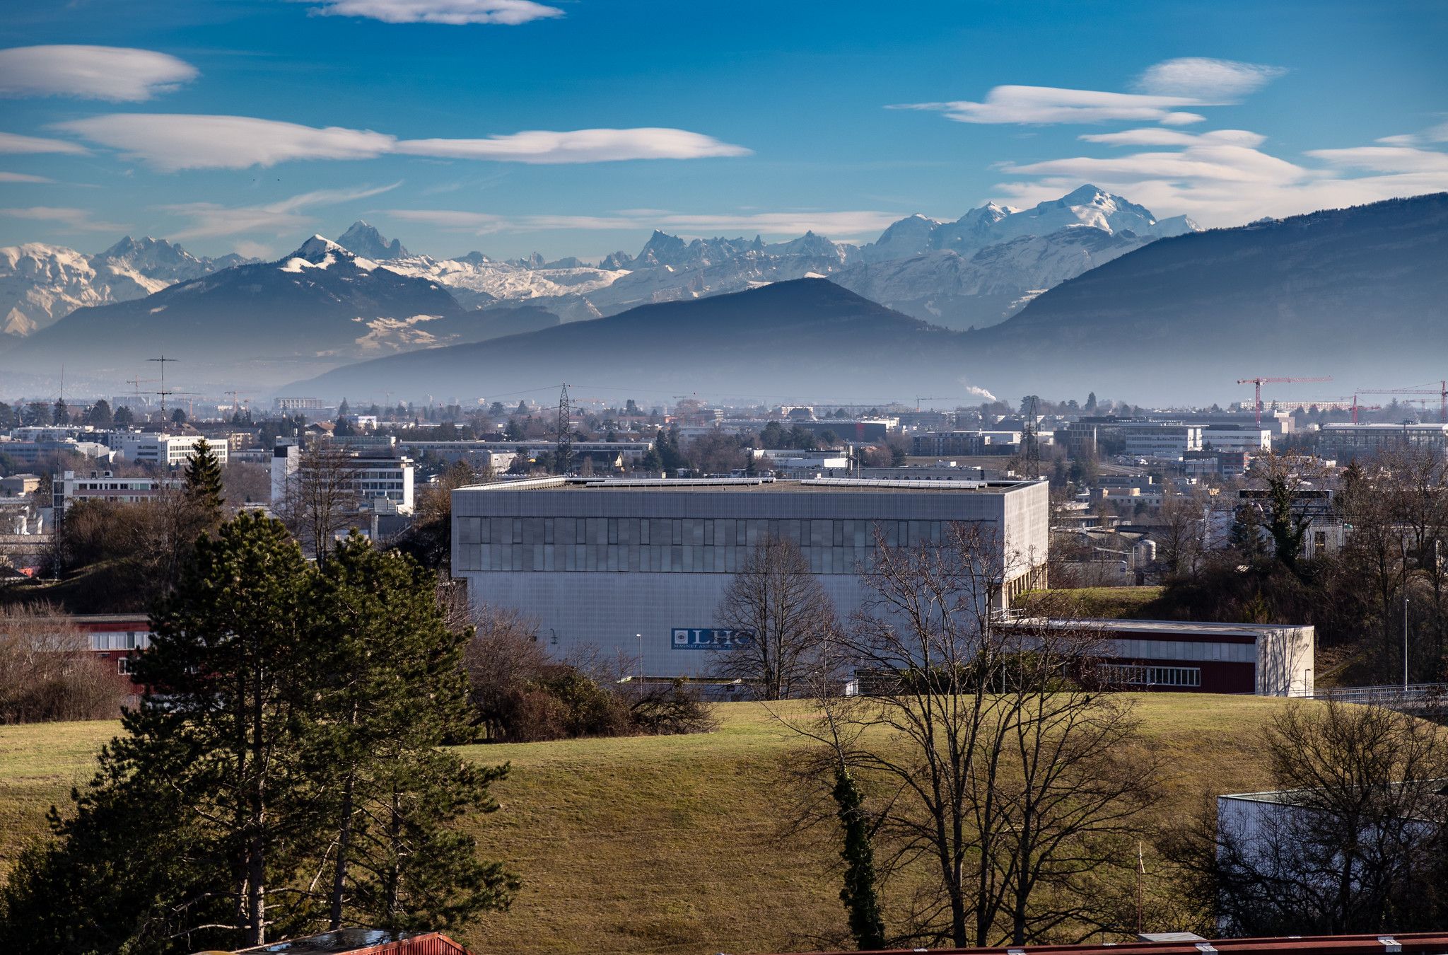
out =
{"type": "Polygon", "coordinates": [[[976,345],[1079,387],[1103,380],[1099,361],[1179,393],[1254,375],[1334,378],[1306,399],[1442,378],[1448,193],[1161,239],[1061,283],[976,345]]]}

